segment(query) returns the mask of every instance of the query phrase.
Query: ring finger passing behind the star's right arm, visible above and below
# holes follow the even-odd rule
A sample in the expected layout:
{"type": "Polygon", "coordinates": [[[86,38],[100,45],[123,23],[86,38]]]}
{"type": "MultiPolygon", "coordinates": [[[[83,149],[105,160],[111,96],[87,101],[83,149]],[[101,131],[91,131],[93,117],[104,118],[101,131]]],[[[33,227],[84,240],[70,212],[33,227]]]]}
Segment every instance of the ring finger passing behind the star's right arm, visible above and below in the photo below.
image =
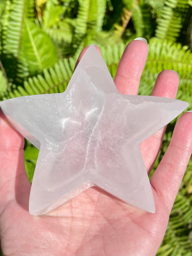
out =
{"type": "MultiPolygon", "coordinates": [[[[156,80],[151,95],[166,98],[175,98],[179,86],[179,77],[172,70],[162,71],[156,80]]],[[[162,145],[163,136],[166,127],[156,132],[154,135],[143,141],[140,145],[142,157],[144,159],[148,174],[153,168],[155,159],[162,145]]]]}

